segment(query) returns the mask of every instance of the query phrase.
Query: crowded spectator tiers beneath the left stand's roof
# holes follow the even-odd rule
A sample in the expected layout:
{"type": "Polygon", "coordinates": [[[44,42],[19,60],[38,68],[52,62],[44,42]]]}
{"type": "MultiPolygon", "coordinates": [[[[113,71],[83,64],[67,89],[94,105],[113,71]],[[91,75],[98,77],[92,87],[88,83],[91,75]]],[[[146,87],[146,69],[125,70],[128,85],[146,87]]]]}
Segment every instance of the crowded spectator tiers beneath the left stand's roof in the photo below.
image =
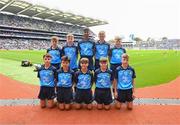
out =
{"type": "MultiPolygon", "coordinates": [[[[18,17],[0,13],[0,49],[46,49],[52,36],[66,41],[67,33],[73,33],[75,41],[82,38],[84,27],[18,17]]],[[[91,36],[94,33],[91,31],[91,36]]]]}

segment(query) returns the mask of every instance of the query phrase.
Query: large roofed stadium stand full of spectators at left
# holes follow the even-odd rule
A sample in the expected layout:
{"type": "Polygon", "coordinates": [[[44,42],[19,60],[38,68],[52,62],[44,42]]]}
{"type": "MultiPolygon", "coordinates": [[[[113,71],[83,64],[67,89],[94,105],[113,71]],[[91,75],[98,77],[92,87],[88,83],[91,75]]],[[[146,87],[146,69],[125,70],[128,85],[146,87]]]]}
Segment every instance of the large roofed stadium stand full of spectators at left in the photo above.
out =
{"type": "Polygon", "coordinates": [[[25,1],[0,0],[0,49],[46,49],[52,36],[60,38],[61,46],[67,33],[73,33],[77,42],[84,27],[104,24],[107,22],[25,1]]]}

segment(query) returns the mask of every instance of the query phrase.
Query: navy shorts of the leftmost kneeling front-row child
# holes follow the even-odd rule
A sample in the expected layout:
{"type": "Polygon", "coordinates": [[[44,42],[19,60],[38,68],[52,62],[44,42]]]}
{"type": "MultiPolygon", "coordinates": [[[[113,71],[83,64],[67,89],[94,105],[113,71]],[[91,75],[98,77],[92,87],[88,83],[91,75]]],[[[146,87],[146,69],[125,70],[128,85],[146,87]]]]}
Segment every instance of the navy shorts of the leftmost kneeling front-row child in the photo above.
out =
{"type": "Polygon", "coordinates": [[[52,100],[54,99],[55,96],[55,88],[54,87],[47,87],[47,86],[41,86],[40,87],[40,92],[38,95],[38,98],[41,100],[52,100]]]}

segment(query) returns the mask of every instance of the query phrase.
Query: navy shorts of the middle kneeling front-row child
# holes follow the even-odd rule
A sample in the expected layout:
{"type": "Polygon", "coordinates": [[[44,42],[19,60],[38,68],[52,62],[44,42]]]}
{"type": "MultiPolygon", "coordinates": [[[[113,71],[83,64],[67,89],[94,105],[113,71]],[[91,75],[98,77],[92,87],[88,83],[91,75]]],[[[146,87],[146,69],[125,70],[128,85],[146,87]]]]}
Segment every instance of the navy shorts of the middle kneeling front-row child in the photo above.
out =
{"type": "Polygon", "coordinates": [[[76,103],[85,103],[90,104],[92,103],[92,91],[91,89],[76,89],[75,95],[75,102],[76,103]]]}

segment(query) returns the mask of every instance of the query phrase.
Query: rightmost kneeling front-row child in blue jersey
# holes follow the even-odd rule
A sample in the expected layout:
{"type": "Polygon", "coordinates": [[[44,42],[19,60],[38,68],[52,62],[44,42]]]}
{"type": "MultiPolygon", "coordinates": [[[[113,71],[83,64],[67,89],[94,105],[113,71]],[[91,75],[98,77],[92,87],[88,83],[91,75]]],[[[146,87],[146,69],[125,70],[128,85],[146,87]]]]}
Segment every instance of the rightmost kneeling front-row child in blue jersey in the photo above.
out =
{"type": "Polygon", "coordinates": [[[129,56],[127,54],[122,55],[122,65],[117,67],[115,72],[115,98],[117,99],[115,105],[120,109],[122,103],[127,103],[127,109],[133,109],[134,99],[134,78],[136,74],[134,69],[129,66],[129,56]]]}

